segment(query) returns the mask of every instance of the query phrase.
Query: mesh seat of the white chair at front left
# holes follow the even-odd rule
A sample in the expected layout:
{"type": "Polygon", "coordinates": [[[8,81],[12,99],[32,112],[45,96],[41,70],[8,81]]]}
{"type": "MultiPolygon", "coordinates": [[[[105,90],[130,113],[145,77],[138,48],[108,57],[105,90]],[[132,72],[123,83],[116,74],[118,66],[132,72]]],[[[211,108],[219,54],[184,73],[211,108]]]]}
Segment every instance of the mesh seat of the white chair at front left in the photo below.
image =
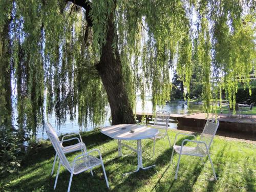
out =
{"type": "Polygon", "coordinates": [[[88,155],[87,157],[80,158],[76,160],[74,174],[79,174],[81,172],[84,172],[84,170],[87,170],[90,167],[93,167],[99,164],[101,164],[101,160],[90,155],[88,155]]]}

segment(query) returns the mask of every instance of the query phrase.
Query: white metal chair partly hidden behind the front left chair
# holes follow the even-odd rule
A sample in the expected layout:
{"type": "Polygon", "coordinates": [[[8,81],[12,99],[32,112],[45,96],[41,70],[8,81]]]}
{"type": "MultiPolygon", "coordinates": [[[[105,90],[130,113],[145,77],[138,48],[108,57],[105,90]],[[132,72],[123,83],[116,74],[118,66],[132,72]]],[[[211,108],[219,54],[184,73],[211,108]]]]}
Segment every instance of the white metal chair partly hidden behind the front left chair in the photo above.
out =
{"type": "MultiPolygon", "coordinates": [[[[76,152],[76,151],[81,151],[82,152],[83,148],[85,149],[85,152],[86,152],[86,145],[82,142],[82,138],[81,138],[81,135],[79,133],[65,135],[65,136],[62,137],[62,139],[60,141],[56,132],[55,132],[55,130],[54,130],[54,128],[52,126],[46,126],[46,129],[48,130],[48,132],[49,132],[49,130],[51,130],[51,132],[54,134],[55,138],[57,138],[57,141],[60,143],[60,146],[63,150],[63,153],[66,154],[66,153],[71,153],[71,152],[76,152]],[[73,137],[71,139],[64,140],[65,137],[74,136],[74,135],[78,135],[79,138],[78,137],[73,137]],[[67,141],[71,141],[71,140],[77,140],[78,143],[76,143],[74,145],[69,145],[69,146],[63,146],[62,145],[63,142],[67,142],[67,141]]],[[[57,153],[56,153],[55,158],[54,158],[51,175],[53,174],[56,161],[58,161],[58,154],[57,153]]],[[[93,173],[92,173],[92,175],[93,175],[93,173]]]]}

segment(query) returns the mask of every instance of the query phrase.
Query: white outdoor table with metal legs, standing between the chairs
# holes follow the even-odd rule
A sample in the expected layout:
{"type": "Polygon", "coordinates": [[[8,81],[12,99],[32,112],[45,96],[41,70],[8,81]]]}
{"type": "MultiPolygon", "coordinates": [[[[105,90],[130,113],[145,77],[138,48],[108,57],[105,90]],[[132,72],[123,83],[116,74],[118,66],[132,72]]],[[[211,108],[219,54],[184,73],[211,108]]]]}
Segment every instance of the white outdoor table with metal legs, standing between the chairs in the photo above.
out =
{"type": "MultiPolygon", "coordinates": [[[[118,124],[113,126],[105,127],[101,130],[101,133],[107,135],[113,139],[118,140],[118,156],[122,156],[122,146],[130,148],[130,150],[137,152],[138,157],[138,167],[134,172],[138,172],[141,169],[148,169],[155,165],[143,167],[142,164],[142,146],[141,140],[155,137],[159,131],[145,125],[137,124],[118,124]],[[132,130],[132,131],[131,131],[132,130]],[[129,145],[121,142],[121,140],[137,140],[137,150],[129,145]]],[[[128,175],[134,172],[126,173],[123,175],[128,175]]]]}

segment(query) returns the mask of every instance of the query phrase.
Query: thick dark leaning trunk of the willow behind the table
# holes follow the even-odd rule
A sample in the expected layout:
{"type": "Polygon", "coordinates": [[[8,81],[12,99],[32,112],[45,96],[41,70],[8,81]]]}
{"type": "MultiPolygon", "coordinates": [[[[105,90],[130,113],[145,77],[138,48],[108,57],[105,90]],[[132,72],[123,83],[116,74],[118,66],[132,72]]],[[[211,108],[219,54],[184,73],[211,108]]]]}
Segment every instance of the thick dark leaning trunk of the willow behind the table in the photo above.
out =
{"type": "Polygon", "coordinates": [[[108,19],[106,43],[102,46],[97,71],[108,95],[111,108],[112,124],[135,123],[135,118],[127,92],[124,87],[121,59],[117,48],[116,26],[114,16],[108,19]],[[116,45],[113,50],[112,45],[116,45]]]}

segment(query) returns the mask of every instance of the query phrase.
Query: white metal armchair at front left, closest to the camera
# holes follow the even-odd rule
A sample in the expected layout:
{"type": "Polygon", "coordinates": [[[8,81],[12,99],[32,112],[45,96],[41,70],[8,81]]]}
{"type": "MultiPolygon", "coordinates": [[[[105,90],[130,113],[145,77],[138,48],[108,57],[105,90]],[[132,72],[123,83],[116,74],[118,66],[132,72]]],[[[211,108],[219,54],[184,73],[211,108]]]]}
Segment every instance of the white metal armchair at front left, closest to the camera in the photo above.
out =
{"type": "MultiPolygon", "coordinates": [[[[104,164],[102,161],[100,151],[97,149],[94,149],[90,152],[86,152],[85,148],[81,148],[82,154],[76,156],[74,158],[73,162],[70,163],[65,156],[63,147],[60,145],[60,142],[58,141],[58,137],[56,137],[55,132],[53,132],[52,130],[53,130],[52,125],[50,123],[46,123],[46,133],[47,133],[49,139],[51,140],[54,150],[56,151],[56,153],[59,157],[58,172],[57,172],[55,183],[54,183],[54,189],[56,188],[60,165],[64,166],[71,174],[70,180],[69,180],[68,192],[70,191],[73,175],[77,175],[77,174],[82,173],[89,169],[92,170],[92,168],[97,165],[102,166],[105,181],[106,181],[106,186],[109,188],[108,178],[106,177],[105,168],[104,168],[104,164]],[[89,155],[92,152],[98,152],[99,159],[94,156],[89,155]]],[[[84,146],[85,146],[85,144],[84,144],[84,146]]]]}

